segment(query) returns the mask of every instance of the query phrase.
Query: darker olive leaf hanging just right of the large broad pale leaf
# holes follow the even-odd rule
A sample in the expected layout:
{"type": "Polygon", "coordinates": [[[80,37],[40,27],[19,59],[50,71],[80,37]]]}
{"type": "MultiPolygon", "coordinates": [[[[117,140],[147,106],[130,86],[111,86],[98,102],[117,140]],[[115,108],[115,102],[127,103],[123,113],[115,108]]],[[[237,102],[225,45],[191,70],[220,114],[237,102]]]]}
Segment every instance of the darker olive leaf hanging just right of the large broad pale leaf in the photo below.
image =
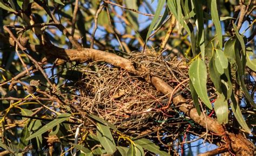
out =
{"type": "Polygon", "coordinates": [[[209,73],[210,73],[210,78],[215,86],[215,89],[221,93],[222,91],[221,91],[221,87],[220,87],[221,86],[220,73],[217,71],[217,69],[215,67],[214,56],[211,58],[211,60],[209,62],[209,73]]]}

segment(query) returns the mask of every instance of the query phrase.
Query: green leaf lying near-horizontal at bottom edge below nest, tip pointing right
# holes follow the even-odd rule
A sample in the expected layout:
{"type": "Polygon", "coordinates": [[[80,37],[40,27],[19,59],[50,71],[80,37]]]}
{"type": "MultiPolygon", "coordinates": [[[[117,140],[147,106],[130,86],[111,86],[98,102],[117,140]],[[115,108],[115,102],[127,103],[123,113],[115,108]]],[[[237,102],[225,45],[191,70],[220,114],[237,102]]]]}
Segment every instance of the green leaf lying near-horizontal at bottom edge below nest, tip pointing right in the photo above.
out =
{"type": "Polygon", "coordinates": [[[170,156],[168,153],[164,151],[160,151],[160,147],[152,143],[150,140],[142,138],[138,140],[133,140],[133,142],[137,145],[142,146],[144,149],[153,152],[155,154],[159,154],[161,156],[170,156]]]}

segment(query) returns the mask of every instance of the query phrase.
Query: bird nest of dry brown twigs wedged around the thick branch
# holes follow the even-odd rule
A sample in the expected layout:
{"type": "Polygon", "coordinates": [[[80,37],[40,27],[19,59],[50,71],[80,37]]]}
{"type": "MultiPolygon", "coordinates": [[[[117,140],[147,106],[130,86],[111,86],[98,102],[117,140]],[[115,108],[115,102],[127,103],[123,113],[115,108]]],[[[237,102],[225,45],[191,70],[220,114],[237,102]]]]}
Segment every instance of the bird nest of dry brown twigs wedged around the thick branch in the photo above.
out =
{"type": "MultiPolygon", "coordinates": [[[[132,62],[146,66],[153,76],[157,76],[175,87],[187,79],[188,65],[184,59],[166,60],[163,57],[132,53],[126,57],[132,62]]],[[[133,75],[103,62],[91,62],[81,69],[85,74],[78,82],[80,107],[89,113],[109,121],[127,134],[143,135],[156,132],[159,126],[187,124],[188,120],[174,105],[163,111],[169,98],[147,83],[142,77],[133,75]]],[[[191,100],[188,83],[181,85],[174,96],[182,94],[191,100]]],[[[167,128],[167,127],[165,127],[167,128]]]]}

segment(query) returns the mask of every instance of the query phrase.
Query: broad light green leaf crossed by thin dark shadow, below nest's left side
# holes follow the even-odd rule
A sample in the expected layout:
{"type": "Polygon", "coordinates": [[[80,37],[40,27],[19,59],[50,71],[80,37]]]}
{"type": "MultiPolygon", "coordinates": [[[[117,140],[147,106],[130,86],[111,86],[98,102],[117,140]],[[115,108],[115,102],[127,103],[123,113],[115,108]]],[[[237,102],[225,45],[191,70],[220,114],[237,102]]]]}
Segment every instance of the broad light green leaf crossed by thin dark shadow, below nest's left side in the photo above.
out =
{"type": "Polygon", "coordinates": [[[97,123],[97,137],[107,154],[112,154],[116,151],[116,144],[114,144],[114,139],[109,127],[101,123],[97,123]]]}

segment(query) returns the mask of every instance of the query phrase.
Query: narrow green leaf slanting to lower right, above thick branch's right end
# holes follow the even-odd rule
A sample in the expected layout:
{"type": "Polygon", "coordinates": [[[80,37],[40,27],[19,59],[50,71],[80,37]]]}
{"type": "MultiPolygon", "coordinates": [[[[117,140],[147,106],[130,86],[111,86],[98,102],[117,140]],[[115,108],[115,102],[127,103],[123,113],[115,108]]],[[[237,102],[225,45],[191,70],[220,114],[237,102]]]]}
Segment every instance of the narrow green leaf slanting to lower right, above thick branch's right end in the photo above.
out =
{"type": "Polygon", "coordinates": [[[247,133],[252,134],[250,128],[245,122],[245,119],[242,117],[242,112],[239,105],[237,104],[237,101],[235,100],[234,93],[232,93],[231,95],[231,101],[232,103],[230,104],[230,107],[234,113],[235,119],[237,119],[238,123],[242,126],[242,128],[244,128],[247,133]]]}

